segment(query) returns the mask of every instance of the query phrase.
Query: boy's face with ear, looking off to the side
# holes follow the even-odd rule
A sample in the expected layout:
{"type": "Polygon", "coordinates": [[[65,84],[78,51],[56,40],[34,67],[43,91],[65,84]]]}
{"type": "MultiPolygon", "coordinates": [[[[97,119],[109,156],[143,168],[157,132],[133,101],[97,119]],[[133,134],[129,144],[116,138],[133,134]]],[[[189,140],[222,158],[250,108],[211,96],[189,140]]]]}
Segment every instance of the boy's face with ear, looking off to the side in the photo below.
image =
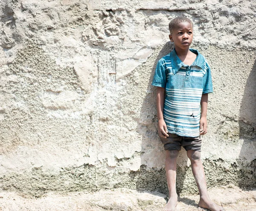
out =
{"type": "Polygon", "coordinates": [[[179,23],[172,30],[172,35],[169,38],[175,44],[175,49],[188,49],[193,40],[193,27],[189,22],[179,23]]]}

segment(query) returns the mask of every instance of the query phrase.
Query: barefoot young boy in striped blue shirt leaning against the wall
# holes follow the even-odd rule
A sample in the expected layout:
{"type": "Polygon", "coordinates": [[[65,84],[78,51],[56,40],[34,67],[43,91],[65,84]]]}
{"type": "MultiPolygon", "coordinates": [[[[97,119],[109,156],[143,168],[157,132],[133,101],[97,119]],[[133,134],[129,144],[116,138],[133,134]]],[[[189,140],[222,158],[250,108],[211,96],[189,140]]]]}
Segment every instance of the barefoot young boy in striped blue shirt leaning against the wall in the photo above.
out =
{"type": "Polygon", "coordinates": [[[193,24],[189,18],[174,18],[169,29],[175,49],[158,61],[152,82],[157,87],[158,133],[166,150],[169,201],[163,211],[174,211],[177,205],[176,161],[181,146],[191,161],[200,193],[198,206],[224,211],[209,199],[201,162],[200,135],[207,133],[208,93],[213,92],[210,68],[203,55],[189,49],[193,39],[193,24]]]}

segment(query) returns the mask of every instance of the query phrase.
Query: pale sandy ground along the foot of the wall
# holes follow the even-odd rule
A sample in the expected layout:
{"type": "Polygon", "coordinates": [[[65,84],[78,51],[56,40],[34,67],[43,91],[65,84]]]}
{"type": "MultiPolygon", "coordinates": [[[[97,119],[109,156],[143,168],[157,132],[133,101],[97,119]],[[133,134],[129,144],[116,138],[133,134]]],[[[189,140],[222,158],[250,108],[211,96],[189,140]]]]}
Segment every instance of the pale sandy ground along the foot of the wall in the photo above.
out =
{"type": "MultiPolygon", "coordinates": [[[[228,185],[212,188],[209,195],[226,211],[256,211],[256,190],[245,191],[228,185]]],[[[177,211],[204,211],[197,206],[198,195],[179,197],[177,211]]],[[[102,190],[96,193],[48,193],[30,198],[16,192],[0,192],[0,211],[161,211],[166,195],[128,189],[102,190]]]]}

